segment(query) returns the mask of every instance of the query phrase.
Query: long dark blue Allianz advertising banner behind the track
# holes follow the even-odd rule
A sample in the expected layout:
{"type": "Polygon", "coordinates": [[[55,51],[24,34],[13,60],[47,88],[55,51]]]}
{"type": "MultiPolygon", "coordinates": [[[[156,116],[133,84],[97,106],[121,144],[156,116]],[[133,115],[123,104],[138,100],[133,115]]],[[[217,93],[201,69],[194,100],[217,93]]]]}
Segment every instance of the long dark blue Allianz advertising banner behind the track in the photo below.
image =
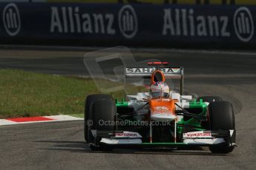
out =
{"type": "Polygon", "coordinates": [[[255,44],[256,7],[0,3],[1,44],[255,44]]]}

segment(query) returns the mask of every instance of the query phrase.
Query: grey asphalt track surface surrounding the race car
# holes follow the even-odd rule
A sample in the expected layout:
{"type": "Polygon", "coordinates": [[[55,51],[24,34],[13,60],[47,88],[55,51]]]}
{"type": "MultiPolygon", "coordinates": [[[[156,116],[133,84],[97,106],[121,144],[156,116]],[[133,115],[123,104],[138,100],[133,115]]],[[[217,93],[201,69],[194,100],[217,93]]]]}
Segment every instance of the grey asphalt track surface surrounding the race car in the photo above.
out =
{"type": "MultiPolygon", "coordinates": [[[[0,50],[0,68],[86,76],[88,70],[82,58],[93,50],[0,50]]],[[[0,126],[0,169],[255,169],[256,53],[160,49],[131,52],[137,61],[157,58],[185,67],[186,92],[220,95],[231,101],[237,129],[238,147],[234,152],[211,154],[205,147],[92,152],[85,144],[81,120],[33,123],[0,126]]],[[[111,64],[118,65],[119,61],[105,65],[111,64]]]]}

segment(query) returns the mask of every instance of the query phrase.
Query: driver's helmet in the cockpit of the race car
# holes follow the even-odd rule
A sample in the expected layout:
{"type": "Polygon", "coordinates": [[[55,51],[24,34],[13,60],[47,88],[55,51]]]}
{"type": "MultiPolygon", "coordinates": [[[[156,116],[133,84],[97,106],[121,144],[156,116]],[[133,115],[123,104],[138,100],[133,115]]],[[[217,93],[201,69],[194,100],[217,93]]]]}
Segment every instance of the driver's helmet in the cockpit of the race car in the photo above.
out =
{"type": "Polygon", "coordinates": [[[167,84],[162,81],[155,82],[150,86],[152,98],[164,97],[167,98],[170,94],[170,89],[167,84]]]}

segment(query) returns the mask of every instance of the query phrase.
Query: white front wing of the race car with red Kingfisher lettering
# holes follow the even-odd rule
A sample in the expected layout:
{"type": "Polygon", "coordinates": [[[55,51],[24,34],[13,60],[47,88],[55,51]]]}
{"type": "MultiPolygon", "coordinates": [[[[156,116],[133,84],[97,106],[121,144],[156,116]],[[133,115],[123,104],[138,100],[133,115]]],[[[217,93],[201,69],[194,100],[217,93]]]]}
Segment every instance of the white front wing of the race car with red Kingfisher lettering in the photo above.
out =
{"type": "MultiPolygon", "coordinates": [[[[137,132],[105,132],[105,131],[91,131],[92,135],[96,138],[100,137],[99,145],[102,146],[165,146],[165,147],[177,147],[177,146],[213,146],[213,145],[225,145],[236,146],[234,143],[234,130],[226,131],[200,131],[200,132],[187,132],[183,134],[183,142],[177,143],[143,143],[142,136],[137,132]]],[[[95,145],[95,143],[90,143],[95,145]]]]}

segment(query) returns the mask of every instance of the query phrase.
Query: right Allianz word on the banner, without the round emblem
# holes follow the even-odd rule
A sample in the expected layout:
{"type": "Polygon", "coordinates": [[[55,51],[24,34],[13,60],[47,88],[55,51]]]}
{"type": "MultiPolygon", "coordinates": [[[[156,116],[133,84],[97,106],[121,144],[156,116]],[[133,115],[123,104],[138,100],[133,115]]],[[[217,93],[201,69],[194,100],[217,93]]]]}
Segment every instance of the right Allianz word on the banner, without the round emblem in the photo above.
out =
{"type": "Polygon", "coordinates": [[[164,9],[163,35],[229,37],[228,16],[197,16],[193,9],[164,9]]]}

